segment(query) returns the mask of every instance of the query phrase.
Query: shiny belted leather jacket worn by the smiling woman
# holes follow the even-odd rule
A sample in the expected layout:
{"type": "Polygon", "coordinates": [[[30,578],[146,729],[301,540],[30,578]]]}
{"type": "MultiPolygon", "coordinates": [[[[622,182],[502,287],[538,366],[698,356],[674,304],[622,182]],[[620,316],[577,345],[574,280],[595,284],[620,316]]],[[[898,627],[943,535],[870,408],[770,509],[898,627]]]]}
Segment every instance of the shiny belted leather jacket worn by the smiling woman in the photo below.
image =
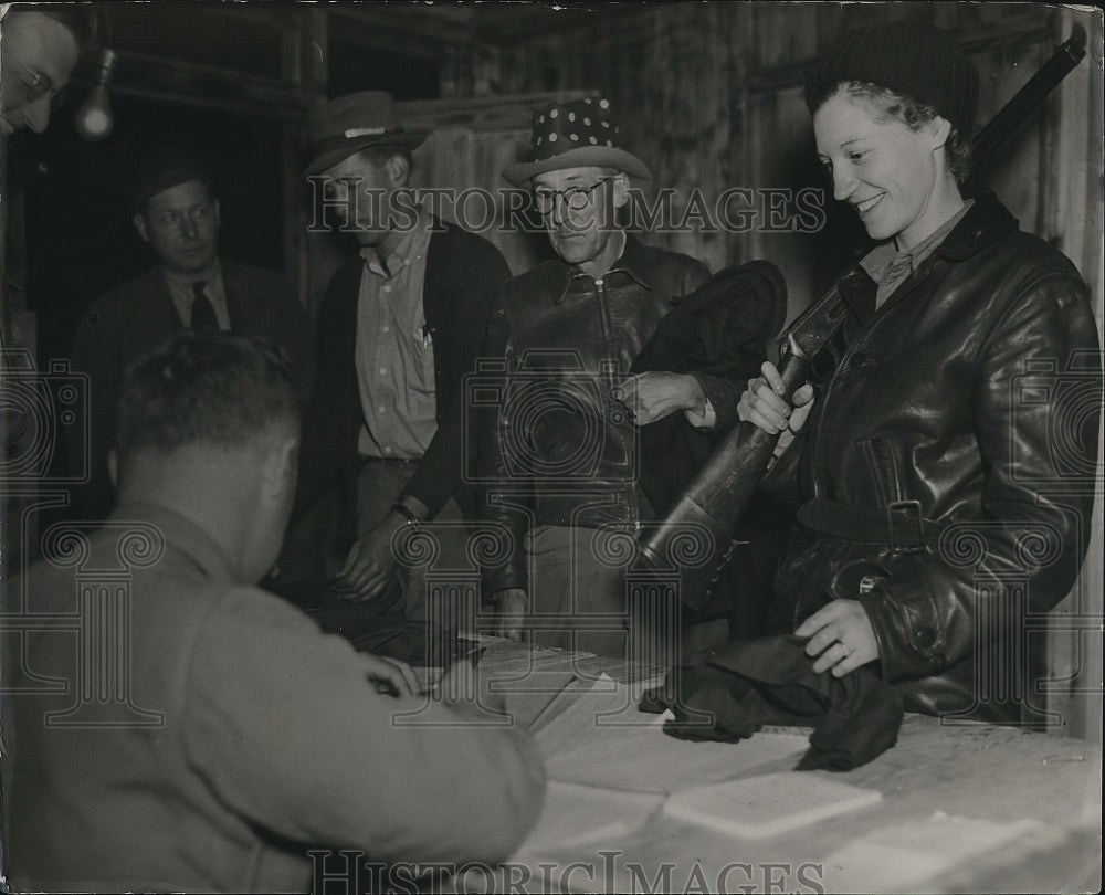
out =
{"type": "Polygon", "coordinates": [[[776,577],[779,622],[857,598],[907,708],[1015,722],[1033,699],[1027,628],[1071,590],[1091,533],[1102,379],[1086,285],[988,194],[877,310],[862,268],[839,287],[839,360],[766,480],[813,502],[776,577]],[[855,508],[888,507],[886,537],[849,529],[855,508]]]}

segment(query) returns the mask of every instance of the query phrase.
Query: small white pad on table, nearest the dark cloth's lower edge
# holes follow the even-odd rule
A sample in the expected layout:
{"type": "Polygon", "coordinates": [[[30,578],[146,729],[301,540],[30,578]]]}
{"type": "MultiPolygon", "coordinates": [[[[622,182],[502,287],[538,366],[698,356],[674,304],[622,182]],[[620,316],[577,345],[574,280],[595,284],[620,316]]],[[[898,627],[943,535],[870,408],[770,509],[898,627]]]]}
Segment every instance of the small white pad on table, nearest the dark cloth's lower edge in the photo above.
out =
{"type": "Polygon", "coordinates": [[[875,789],[810,771],[783,771],[693,787],[671,796],[664,813],[718,833],[760,840],[877,804],[875,789]]]}

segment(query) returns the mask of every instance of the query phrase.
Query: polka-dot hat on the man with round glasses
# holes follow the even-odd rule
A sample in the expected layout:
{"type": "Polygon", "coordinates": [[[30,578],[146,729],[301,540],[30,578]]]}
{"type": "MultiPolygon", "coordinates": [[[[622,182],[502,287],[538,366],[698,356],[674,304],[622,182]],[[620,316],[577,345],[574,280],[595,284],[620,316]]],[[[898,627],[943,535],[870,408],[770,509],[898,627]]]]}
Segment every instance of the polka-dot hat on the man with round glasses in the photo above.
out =
{"type": "Polygon", "coordinates": [[[632,152],[615,146],[618,126],[610,101],[601,96],[554,103],[534,113],[529,136],[530,161],[508,165],[505,177],[516,187],[546,171],[565,168],[617,168],[632,177],[651,180],[648,166],[632,152]]]}

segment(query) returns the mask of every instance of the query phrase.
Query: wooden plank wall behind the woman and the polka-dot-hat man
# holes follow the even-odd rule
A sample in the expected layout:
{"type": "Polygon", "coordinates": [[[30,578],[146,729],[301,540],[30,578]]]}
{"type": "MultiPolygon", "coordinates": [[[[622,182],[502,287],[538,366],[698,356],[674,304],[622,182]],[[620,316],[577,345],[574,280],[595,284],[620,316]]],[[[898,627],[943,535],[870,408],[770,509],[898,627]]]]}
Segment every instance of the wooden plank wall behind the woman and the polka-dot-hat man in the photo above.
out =
{"type": "MultiPolygon", "coordinates": [[[[953,32],[978,67],[977,126],[987,122],[1080,23],[1090,59],[1045,109],[1011,138],[980,182],[1064,251],[1091,285],[1103,318],[1102,15],[1031,3],[686,3],[661,7],[604,29],[567,30],[504,48],[505,93],[598,90],[621,120],[625,146],[674,187],[716,197],[727,187],[827,186],[813,161],[801,83],[843,28],[903,18],[953,32]]],[[[646,241],[702,259],[714,271],[753,257],[775,262],[790,288],[791,316],[819,294],[862,231],[833,209],[819,233],[654,232],[646,241]]],[[[676,215],[677,217],[677,215],[676,215]]],[[[1098,474],[1101,466],[1098,466],[1098,474]]],[[[1098,475],[1099,477],[1099,475],[1098,475]]],[[[1045,672],[1032,699],[1056,729],[1102,736],[1102,502],[1090,560],[1056,610],[1045,672]]]]}

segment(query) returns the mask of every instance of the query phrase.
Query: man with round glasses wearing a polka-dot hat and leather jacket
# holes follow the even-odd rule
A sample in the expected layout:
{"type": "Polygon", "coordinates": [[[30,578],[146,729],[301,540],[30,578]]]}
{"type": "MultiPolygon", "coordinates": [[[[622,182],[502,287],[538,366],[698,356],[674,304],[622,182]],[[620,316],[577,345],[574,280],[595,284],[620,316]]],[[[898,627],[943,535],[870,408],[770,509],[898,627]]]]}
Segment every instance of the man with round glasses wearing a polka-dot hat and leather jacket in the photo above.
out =
{"type": "Polygon", "coordinates": [[[711,428],[739,397],[705,373],[630,375],[673,299],[709,274],[618,225],[631,178],[651,176],[617,139],[607,99],[554,104],[534,116],[532,160],[504,171],[532,187],[557,257],[505,284],[492,313],[503,400],[481,419],[477,464],[482,518],[515,545],[485,570],[499,633],[603,654],[625,652],[633,614],[618,538],[665,509],[640,486],[639,428],[672,414],[711,428]]]}

